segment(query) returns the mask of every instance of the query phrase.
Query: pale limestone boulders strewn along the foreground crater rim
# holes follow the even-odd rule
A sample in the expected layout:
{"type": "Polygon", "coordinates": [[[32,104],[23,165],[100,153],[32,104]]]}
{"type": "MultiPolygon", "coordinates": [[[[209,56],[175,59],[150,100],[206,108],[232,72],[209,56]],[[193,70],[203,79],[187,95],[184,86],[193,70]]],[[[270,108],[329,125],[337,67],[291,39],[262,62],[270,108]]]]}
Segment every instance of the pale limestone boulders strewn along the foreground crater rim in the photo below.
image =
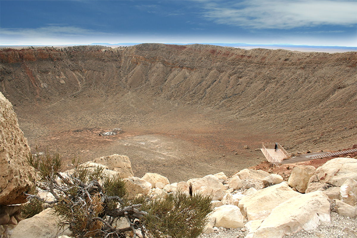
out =
{"type": "MultiPolygon", "coordinates": [[[[14,178],[11,180],[3,179],[6,176],[1,177],[0,236],[70,236],[66,226],[55,225],[61,223],[61,218],[53,216],[50,209],[21,220],[19,206],[15,204],[24,202],[19,197],[32,186],[35,174],[26,166],[26,153],[30,150],[18,128],[11,103],[1,93],[0,99],[1,139],[6,142],[1,144],[1,173],[6,172],[6,176],[14,178]],[[12,182],[9,186],[9,181],[24,182],[12,182]],[[9,197],[8,194],[14,195],[9,197]]],[[[102,172],[106,176],[124,179],[129,197],[143,194],[162,198],[178,190],[189,193],[190,187],[193,193],[211,195],[215,209],[209,215],[205,233],[213,233],[218,227],[245,228],[245,237],[282,238],[301,230],[315,229],[321,223],[330,223],[331,209],[342,216],[357,216],[356,158],[331,159],[317,169],[297,166],[288,181],[282,181],[281,176],[262,170],[242,169],[231,177],[221,172],[170,183],[169,179],[156,173],[135,177],[130,159],[116,154],[96,158],[81,166],[89,169],[103,167],[102,172]]],[[[62,175],[66,176],[71,172],[65,171],[62,175]]],[[[46,192],[42,196],[50,199],[46,192]]],[[[352,233],[356,235],[355,230],[352,233]]]]}

